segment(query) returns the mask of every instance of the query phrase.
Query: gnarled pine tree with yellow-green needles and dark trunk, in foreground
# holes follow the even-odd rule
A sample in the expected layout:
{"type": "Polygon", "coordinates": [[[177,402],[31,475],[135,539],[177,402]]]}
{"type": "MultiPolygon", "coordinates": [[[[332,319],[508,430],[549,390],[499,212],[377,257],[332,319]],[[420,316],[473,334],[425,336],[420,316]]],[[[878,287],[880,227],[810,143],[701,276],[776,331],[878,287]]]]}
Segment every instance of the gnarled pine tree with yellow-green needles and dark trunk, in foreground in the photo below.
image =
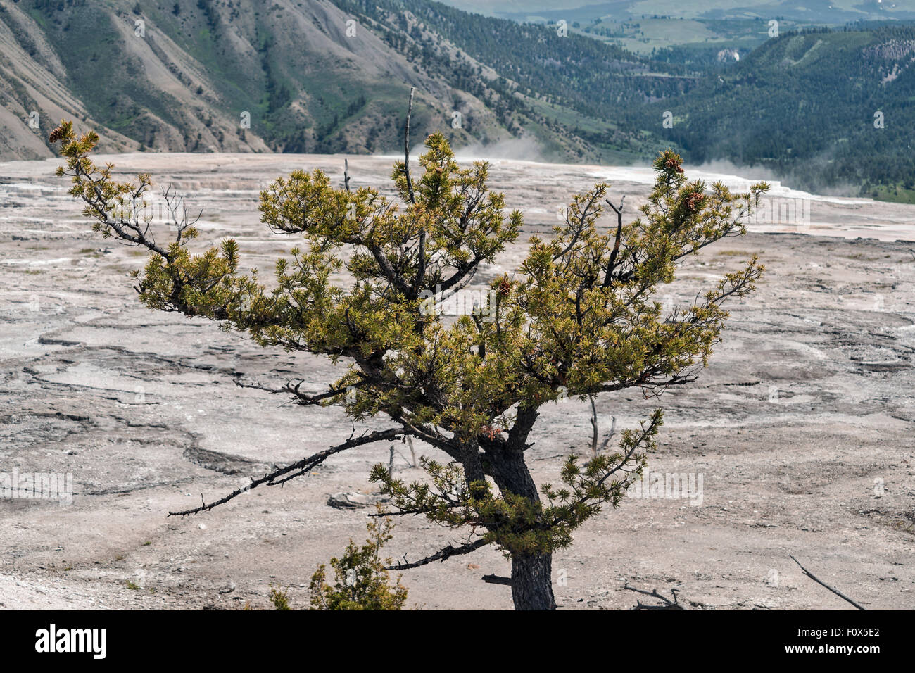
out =
{"type": "MultiPolygon", "coordinates": [[[[409,117],[407,140],[409,137],[409,117]]],[[[209,510],[260,485],[305,474],[336,453],[372,442],[423,440],[446,457],[424,459],[425,481],[404,483],[382,464],[371,480],[391,497],[393,514],[417,514],[461,529],[467,542],[394,570],[495,545],[511,559],[518,609],[553,609],[552,555],[603,505],[617,506],[655,446],[660,409],[619,446],[587,461],[556,465],[557,483],[534,483],[526,462],[538,409],[561,397],[597,396],[626,388],[645,395],[694,381],[727,319],[723,304],[742,297],[762,273],[754,256],[707,288],[691,305],[662,314],[659,288],[684,258],[727,236],[768,186],[734,194],[721,183],[687,181],[681,158],[663,152],[648,202],[624,224],[622,202],[599,183],[576,195],[549,239],[533,236],[521,266],[490,283],[489,300],[449,319],[436,302],[467,288],[479,266],[496,261],[522,229],[521,212],[487,188],[489,167],[459,168],[440,134],[425,141],[422,174],[409,161],[393,168],[396,198],[377,190],[337,189],[319,170],[294,171],[261,193],[261,220],[274,233],[302,241],[276,261],[271,284],[242,273],[238,244],[191,250],[198,231],[176,214],[177,232],[156,243],[137,213],[152,184],[148,175],[119,182],[112,166],[89,157],[98,136],[77,136],[70,122],[51,134],[61,141],[70,193],[102,236],[145,246],[135,272],[150,309],[214,320],[264,347],[316,353],[347,365],[346,374],[315,395],[299,383],[269,388],[303,407],[335,405],[359,422],[388,418],[391,428],[353,434],[339,445],[253,479],[209,510]],[[616,213],[597,228],[606,203],[616,213]],[[345,269],[344,285],[335,274],[345,269]]],[[[405,144],[409,147],[408,142],[405,144]]],[[[406,157],[408,159],[409,157],[406,157]]],[[[264,388],[266,389],[266,388],[264,388]]]]}

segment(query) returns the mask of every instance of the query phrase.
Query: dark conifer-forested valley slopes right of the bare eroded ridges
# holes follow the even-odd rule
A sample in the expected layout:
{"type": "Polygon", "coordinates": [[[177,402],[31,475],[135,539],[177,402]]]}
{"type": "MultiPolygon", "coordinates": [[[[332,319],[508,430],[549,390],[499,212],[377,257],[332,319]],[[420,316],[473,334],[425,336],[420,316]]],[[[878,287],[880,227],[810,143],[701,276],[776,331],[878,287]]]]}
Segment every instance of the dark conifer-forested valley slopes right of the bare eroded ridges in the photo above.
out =
{"type": "MultiPolygon", "coordinates": [[[[338,2],[376,17],[404,7],[527,96],[611,121],[641,157],[677,147],[695,163],[760,166],[808,189],[915,198],[912,24],[789,31],[737,62],[683,64],[424,0],[338,2]]],[[[599,130],[572,130],[602,147],[599,130]]]]}

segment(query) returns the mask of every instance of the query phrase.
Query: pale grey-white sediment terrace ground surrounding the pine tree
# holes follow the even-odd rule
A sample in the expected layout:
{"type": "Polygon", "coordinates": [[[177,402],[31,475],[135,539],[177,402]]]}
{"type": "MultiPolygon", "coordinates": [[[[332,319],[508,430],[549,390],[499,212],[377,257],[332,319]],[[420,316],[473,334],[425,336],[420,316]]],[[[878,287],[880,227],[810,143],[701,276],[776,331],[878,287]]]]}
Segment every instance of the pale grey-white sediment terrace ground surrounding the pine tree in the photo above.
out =
{"type": "MultiPolygon", "coordinates": [[[[261,267],[294,241],[258,222],[256,190],[293,168],[323,168],[339,180],[343,163],[113,160],[188,192],[204,206],[202,243],[234,236],[243,265],[261,267]]],[[[0,472],[70,472],[75,494],[71,505],[0,499],[0,606],[264,607],[270,583],[306,605],[318,563],[364,534],[365,510],[333,509],[328,495],[370,490],[369,468],[387,461],[389,445],[341,454],[308,478],[209,514],[166,518],[201,494],[209,502],[246,474],[350,435],[337,410],[284,404],[232,385],[232,374],[262,383],[302,376],[318,390],[338,372],[319,358],[264,351],[210,323],[140,307],[126,273],[142,255],[90,231],[66,182],[53,176],[56,165],[0,164],[0,472]]],[[[389,158],[350,157],[355,185],[386,187],[390,166],[389,158]]],[[[527,227],[480,281],[517,266],[530,233],[549,233],[559,204],[595,180],[613,182],[615,201],[626,194],[630,213],[650,188],[640,169],[507,160],[493,162],[490,178],[525,212],[527,227]]],[[[773,195],[808,199],[781,187],[773,195]]],[[[789,554],[867,607],[915,602],[915,244],[896,240],[915,240],[915,208],[808,200],[809,223],[754,223],[748,236],[690,261],[685,283],[662,291],[659,300],[676,305],[753,253],[769,268],[759,291],[733,307],[696,384],[660,399],[628,391],[599,400],[603,430],[611,416],[622,429],[664,407],[649,470],[701,475],[702,502],[626,498],[591,520],[555,556],[563,607],[630,607],[639,597],[623,590],[627,581],[678,589],[697,607],[851,607],[804,578],[789,554]],[[765,233],[774,231],[781,234],[765,233]]],[[[539,482],[555,480],[569,451],[587,453],[588,415],[578,401],[544,407],[530,452],[539,482]]],[[[395,448],[404,478],[419,477],[405,447],[395,448]]],[[[418,559],[459,539],[423,519],[397,523],[395,557],[418,559]]],[[[511,607],[507,587],[480,581],[490,573],[508,573],[495,549],[409,570],[409,604],[511,607]]]]}

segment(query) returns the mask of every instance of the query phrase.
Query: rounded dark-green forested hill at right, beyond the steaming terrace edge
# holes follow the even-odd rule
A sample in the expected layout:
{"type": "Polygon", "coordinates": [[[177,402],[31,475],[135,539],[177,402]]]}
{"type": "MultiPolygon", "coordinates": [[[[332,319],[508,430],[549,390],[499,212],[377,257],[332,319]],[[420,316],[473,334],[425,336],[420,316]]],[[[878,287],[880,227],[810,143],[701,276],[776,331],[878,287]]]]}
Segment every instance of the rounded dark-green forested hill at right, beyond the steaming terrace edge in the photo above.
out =
{"type": "Polygon", "coordinates": [[[762,165],[813,189],[915,195],[915,27],[806,31],[771,39],[689,95],[630,109],[695,162],[762,165]]]}

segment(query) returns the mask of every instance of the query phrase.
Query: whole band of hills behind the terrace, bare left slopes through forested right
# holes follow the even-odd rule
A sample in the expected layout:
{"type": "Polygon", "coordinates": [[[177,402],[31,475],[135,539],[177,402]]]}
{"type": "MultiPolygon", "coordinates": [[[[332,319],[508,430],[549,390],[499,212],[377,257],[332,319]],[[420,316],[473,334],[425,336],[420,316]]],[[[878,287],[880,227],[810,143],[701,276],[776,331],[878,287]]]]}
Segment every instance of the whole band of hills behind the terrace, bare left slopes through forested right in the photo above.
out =
{"type": "Polygon", "coordinates": [[[391,152],[415,87],[416,138],[617,164],[673,147],[915,198],[912,24],[785,32],[737,62],[715,49],[651,59],[428,0],[10,1],[0,157],[49,156],[64,116],[109,151],[391,152]]]}

